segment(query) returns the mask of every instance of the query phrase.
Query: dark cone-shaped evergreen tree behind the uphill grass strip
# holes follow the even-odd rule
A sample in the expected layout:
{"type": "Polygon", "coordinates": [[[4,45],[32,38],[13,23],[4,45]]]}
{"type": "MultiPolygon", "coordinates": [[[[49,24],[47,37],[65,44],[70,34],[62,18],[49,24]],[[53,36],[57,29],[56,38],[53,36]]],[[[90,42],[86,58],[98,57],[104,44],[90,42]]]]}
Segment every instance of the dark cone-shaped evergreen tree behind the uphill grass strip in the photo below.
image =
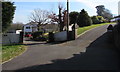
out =
{"type": "Polygon", "coordinates": [[[78,15],[77,24],[79,25],[79,27],[90,26],[92,24],[90,16],[84,9],[82,9],[78,15]]]}

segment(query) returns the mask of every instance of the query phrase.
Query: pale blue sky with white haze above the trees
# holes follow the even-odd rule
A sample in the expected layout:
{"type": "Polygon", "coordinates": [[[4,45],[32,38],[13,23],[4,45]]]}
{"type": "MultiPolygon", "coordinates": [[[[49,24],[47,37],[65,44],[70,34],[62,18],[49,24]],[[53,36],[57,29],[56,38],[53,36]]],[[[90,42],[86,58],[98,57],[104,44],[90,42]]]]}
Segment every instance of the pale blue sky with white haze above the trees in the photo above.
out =
{"type": "MultiPolygon", "coordinates": [[[[15,2],[16,10],[13,22],[29,22],[29,17],[34,9],[53,11],[58,14],[58,4],[66,8],[67,0],[11,0],[15,2]]],[[[90,16],[97,15],[96,6],[104,5],[112,14],[118,15],[118,2],[120,0],[69,0],[69,11],[80,12],[85,9],[90,16]]]]}

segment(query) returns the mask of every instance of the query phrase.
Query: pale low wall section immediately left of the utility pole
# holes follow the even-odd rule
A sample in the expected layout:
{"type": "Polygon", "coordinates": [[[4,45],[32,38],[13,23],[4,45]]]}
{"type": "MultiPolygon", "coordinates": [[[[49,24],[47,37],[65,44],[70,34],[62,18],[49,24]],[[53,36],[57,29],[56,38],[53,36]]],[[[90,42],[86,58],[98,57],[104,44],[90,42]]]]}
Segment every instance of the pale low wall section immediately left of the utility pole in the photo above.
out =
{"type": "Polygon", "coordinates": [[[54,34],[54,41],[66,41],[67,40],[67,31],[58,32],[54,34]]]}

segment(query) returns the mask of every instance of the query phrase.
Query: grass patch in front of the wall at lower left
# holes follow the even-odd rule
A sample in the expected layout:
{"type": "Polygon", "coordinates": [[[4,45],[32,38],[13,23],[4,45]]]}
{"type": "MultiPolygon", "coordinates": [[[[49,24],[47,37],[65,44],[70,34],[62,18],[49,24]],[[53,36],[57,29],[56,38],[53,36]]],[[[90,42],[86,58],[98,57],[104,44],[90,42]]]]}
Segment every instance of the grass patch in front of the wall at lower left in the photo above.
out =
{"type": "Polygon", "coordinates": [[[2,63],[20,55],[26,50],[24,45],[3,45],[2,46],[2,63]]]}

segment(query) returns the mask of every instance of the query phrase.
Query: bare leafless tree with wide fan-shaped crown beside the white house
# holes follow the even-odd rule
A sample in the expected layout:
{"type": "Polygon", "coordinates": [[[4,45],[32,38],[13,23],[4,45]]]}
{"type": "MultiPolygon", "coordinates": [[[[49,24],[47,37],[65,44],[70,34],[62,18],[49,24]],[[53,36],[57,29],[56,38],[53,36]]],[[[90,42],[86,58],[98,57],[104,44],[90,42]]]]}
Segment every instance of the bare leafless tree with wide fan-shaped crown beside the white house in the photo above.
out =
{"type": "Polygon", "coordinates": [[[30,16],[31,22],[38,23],[38,31],[41,25],[49,22],[49,12],[46,10],[35,9],[30,16]]]}

